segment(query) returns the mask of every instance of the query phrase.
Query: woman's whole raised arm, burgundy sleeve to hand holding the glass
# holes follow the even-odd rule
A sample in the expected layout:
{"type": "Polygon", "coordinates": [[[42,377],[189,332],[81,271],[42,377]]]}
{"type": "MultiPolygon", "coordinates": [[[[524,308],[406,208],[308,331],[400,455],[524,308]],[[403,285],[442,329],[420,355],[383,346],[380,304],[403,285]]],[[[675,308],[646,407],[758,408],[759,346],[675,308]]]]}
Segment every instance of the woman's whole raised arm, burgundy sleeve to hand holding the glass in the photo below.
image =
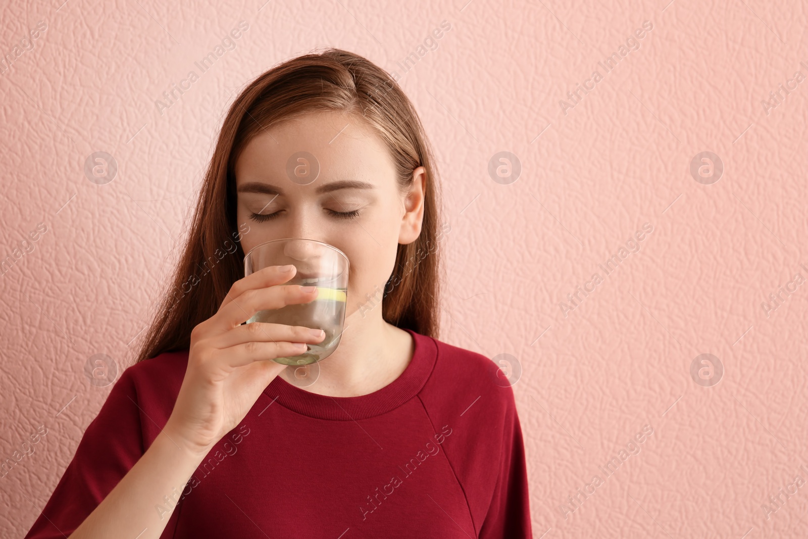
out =
{"type": "Polygon", "coordinates": [[[272,266],[236,281],[217,314],[191,331],[170,417],[142,454],[136,426],[143,411],[131,376],[122,376],[27,537],[67,537],[73,530],[75,538],[160,537],[191,474],[286,368],[271,359],[324,339],[303,326],[242,325],[259,310],[312,301],[315,287],[280,286],[293,275],[272,266]]]}

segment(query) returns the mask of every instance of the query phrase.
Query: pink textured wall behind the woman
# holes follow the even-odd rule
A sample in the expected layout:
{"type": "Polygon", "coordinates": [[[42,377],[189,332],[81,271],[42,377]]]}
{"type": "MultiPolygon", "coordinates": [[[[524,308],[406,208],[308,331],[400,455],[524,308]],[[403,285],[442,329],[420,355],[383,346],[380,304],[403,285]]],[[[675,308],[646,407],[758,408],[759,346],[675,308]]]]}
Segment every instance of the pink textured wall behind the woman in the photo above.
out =
{"type": "Polygon", "coordinates": [[[335,45],[396,72],[436,146],[441,339],[513,358],[535,537],[803,537],[808,4],[592,3],[4,8],[0,458],[47,434],[0,478],[0,535],[107,397],[93,356],[131,363],[234,92],[335,45]]]}

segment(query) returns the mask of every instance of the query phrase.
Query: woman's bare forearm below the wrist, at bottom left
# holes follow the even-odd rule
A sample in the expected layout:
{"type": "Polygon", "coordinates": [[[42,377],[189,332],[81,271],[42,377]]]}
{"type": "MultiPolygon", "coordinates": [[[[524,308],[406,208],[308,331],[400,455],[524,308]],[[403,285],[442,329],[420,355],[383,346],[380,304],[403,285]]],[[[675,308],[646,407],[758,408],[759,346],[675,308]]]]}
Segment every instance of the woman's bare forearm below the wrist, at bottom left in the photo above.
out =
{"type": "Polygon", "coordinates": [[[205,457],[204,453],[175,444],[174,438],[165,430],[160,432],[70,539],[158,539],[188,479],[205,457]]]}

